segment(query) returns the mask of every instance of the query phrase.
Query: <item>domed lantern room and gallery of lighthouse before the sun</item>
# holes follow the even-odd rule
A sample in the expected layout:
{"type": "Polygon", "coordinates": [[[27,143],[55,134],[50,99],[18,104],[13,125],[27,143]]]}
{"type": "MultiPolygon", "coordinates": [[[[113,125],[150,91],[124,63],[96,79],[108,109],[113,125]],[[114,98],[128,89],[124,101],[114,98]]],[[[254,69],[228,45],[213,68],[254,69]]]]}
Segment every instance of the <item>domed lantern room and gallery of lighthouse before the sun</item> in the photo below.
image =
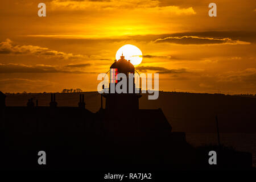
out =
{"type": "MultiPolygon", "coordinates": [[[[106,111],[131,111],[131,110],[138,110],[139,109],[139,98],[141,95],[141,88],[135,88],[135,79],[134,77],[129,77],[130,73],[134,75],[135,68],[134,65],[131,64],[130,60],[126,60],[125,56],[121,56],[120,59],[117,61],[115,60],[114,63],[110,67],[110,80],[109,80],[109,93],[104,93],[102,96],[106,98],[106,111]],[[118,73],[123,73],[126,75],[126,82],[127,82],[127,90],[126,93],[116,93],[113,92],[113,88],[118,84],[118,82],[122,81],[121,79],[117,79],[118,73]],[[132,80],[131,80],[132,79],[132,80]],[[133,84],[129,84],[129,82],[133,84]],[[133,87],[133,92],[130,93],[129,86],[133,87]]],[[[131,76],[131,75],[130,75],[131,76]]]]}

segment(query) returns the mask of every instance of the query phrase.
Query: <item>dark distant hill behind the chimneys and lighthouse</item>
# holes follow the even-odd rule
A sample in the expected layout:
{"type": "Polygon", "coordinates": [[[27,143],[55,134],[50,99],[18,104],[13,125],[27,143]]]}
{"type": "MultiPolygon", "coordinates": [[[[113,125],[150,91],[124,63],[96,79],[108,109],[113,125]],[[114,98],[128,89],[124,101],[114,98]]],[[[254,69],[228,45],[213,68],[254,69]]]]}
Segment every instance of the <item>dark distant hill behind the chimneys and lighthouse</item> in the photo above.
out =
{"type": "MultiPolygon", "coordinates": [[[[79,94],[56,93],[58,106],[77,106],[79,94]]],[[[100,94],[83,94],[86,109],[98,111],[101,105],[100,94]]],[[[49,105],[49,93],[31,93],[7,94],[6,106],[26,106],[30,98],[37,99],[39,106],[49,105]]],[[[158,108],[163,110],[173,131],[215,133],[217,115],[220,133],[256,132],[256,98],[224,94],[159,92],[158,100],[147,100],[147,96],[143,96],[139,102],[139,109],[158,108]]]]}

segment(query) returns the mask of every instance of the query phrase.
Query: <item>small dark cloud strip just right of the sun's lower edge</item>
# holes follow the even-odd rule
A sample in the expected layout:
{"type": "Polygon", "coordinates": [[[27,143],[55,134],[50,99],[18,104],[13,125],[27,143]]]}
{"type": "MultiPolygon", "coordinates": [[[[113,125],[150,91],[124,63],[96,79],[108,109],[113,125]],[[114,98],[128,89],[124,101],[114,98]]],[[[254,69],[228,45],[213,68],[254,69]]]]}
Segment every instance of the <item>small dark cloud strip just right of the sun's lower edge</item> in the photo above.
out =
{"type": "Polygon", "coordinates": [[[176,73],[186,73],[186,69],[185,68],[181,68],[181,69],[167,69],[167,68],[163,68],[163,67],[144,67],[144,66],[139,66],[136,67],[137,70],[139,71],[156,71],[156,73],[159,74],[176,74],[176,73]]]}

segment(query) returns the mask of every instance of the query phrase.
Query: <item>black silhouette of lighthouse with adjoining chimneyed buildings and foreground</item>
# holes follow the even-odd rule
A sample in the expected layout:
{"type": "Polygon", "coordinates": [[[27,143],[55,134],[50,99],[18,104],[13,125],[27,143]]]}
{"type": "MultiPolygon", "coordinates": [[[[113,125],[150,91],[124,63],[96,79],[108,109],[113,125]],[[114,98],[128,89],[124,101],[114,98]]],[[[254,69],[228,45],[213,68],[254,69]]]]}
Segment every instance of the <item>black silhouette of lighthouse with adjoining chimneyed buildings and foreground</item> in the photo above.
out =
{"type": "MultiPolygon", "coordinates": [[[[124,56],[110,67],[110,82],[118,73],[134,73],[124,56]]],[[[132,78],[133,79],[133,78],[132,78]]],[[[135,82],[133,89],[135,91],[135,82]]],[[[127,81],[129,82],[129,81],[127,81]]],[[[105,87],[105,85],[104,85],[105,87]]],[[[106,89],[106,88],[105,88],[106,89]]],[[[129,90],[129,85],[127,85],[129,90]]],[[[110,90],[111,91],[111,90],[110,90]]],[[[92,113],[80,94],[77,107],[57,105],[56,94],[49,106],[32,99],[27,106],[5,106],[0,92],[2,169],[215,169],[209,166],[209,148],[197,150],[185,140],[185,133],[172,132],[161,109],[139,109],[138,93],[102,93],[101,107],[92,113]],[[105,108],[102,100],[105,98],[105,108]],[[47,165],[39,166],[38,152],[46,151],[47,165]]],[[[212,150],[212,148],[211,148],[212,150]]],[[[215,148],[222,151],[223,149],[215,148]]],[[[222,166],[251,167],[251,155],[232,151],[222,166]],[[233,153],[232,153],[233,152],[233,153]],[[232,159],[242,159],[234,165],[232,159]]]]}

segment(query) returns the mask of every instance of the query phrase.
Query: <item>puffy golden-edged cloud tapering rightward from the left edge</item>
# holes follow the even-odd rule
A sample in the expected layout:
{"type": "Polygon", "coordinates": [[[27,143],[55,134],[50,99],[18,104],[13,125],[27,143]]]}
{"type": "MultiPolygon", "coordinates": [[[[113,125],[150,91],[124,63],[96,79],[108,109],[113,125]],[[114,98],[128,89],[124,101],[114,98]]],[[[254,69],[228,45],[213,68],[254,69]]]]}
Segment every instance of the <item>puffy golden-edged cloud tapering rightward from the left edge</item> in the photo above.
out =
{"type": "Polygon", "coordinates": [[[44,57],[55,57],[58,59],[85,58],[84,55],[73,55],[72,53],[59,52],[59,51],[51,50],[46,47],[14,45],[10,39],[6,39],[5,42],[0,43],[0,54],[35,55],[35,56],[44,56],[44,57]]]}

